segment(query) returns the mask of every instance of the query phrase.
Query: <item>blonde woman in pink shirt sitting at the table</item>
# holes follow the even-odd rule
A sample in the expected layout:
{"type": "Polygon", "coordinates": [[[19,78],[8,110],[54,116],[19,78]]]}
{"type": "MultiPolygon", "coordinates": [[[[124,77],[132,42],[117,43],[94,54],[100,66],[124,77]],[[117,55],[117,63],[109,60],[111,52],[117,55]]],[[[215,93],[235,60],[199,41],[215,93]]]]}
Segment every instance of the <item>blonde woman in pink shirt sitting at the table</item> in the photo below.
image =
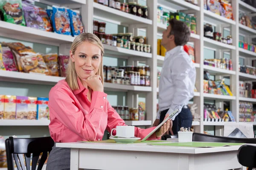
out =
{"type": "MultiPolygon", "coordinates": [[[[49,131],[55,142],[102,140],[105,129],[111,132],[125,122],[111,107],[103,92],[102,58],[104,49],[94,34],[82,33],[71,45],[67,78],[49,93],[49,131]]],[[[135,127],[135,136],[144,138],[155,127],[135,127]]],[[[150,139],[159,139],[169,129],[164,124],[150,139]]],[[[70,169],[70,149],[53,147],[47,170],[70,169]]]]}

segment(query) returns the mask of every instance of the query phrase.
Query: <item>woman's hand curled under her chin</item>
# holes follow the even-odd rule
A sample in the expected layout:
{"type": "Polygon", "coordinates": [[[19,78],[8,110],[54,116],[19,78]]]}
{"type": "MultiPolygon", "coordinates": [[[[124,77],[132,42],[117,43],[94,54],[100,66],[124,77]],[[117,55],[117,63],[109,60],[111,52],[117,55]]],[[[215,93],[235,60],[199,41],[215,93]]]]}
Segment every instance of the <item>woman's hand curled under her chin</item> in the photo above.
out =
{"type": "Polygon", "coordinates": [[[93,89],[93,91],[103,92],[103,85],[101,82],[101,77],[99,75],[89,76],[85,80],[85,82],[89,86],[89,88],[93,89]]]}

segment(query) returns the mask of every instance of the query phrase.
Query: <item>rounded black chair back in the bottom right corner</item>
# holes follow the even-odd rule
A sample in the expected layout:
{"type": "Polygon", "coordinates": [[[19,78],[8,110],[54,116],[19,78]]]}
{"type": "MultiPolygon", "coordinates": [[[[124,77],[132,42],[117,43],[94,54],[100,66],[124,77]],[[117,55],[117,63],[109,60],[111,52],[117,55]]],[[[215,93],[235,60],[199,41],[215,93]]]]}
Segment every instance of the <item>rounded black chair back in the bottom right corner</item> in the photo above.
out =
{"type": "Polygon", "coordinates": [[[256,146],[244,144],[237,152],[238,162],[248,170],[256,167],[256,146]]]}

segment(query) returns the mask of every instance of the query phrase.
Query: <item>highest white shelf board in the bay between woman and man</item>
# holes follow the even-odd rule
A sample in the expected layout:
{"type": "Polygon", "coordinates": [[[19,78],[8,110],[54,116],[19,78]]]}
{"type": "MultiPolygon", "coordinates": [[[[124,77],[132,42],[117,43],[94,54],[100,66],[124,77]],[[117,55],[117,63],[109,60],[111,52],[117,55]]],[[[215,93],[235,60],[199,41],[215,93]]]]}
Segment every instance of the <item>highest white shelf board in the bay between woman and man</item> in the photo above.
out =
{"type": "Polygon", "coordinates": [[[104,6],[99,3],[93,3],[93,16],[106,18],[122,24],[148,24],[152,25],[152,20],[128,14],[126,12],[104,6]]]}

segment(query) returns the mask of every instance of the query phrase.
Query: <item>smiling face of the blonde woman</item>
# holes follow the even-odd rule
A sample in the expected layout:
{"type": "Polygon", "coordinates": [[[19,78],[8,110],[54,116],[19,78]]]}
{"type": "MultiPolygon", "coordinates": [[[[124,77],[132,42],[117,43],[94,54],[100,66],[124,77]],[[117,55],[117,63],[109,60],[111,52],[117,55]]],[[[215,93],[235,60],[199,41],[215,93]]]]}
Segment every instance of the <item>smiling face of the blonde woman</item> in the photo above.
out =
{"type": "Polygon", "coordinates": [[[74,55],[70,51],[70,57],[72,62],[75,62],[76,74],[81,80],[95,75],[102,62],[100,48],[87,41],[76,48],[74,55]]]}

